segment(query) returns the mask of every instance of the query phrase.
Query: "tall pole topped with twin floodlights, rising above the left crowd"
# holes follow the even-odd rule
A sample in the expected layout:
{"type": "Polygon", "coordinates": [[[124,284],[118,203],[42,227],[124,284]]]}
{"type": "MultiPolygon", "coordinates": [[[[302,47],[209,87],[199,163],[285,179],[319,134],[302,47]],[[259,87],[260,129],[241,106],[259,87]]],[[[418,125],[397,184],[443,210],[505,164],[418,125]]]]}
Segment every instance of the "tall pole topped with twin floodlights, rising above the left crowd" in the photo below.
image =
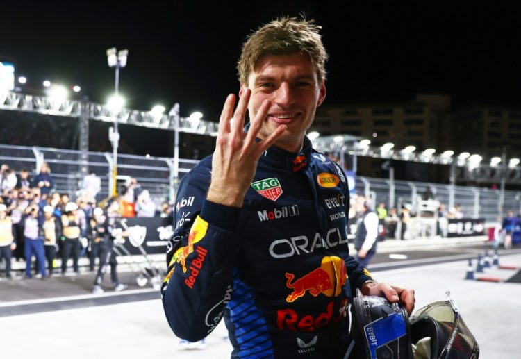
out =
{"type": "MultiPolygon", "coordinates": [[[[115,97],[113,101],[110,101],[109,106],[114,112],[119,112],[123,106],[123,101],[119,97],[119,69],[126,66],[126,58],[129,55],[129,50],[121,50],[117,52],[116,48],[113,47],[107,50],[107,62],[109,67],[115,67],[115,82],[114,90],[115,97]]],[[[117,115],[116,112],[116,115],[117,115]]],[[[119,144],[119,132],[117,131],[117,117],[114,119],[114,128],[108,129],[108,140],[112,143],[113,148],[113,164],[112,164],[112,175],[110,176],[110,194],[115,197],[117,196],[117,146],[119,144]]]]}

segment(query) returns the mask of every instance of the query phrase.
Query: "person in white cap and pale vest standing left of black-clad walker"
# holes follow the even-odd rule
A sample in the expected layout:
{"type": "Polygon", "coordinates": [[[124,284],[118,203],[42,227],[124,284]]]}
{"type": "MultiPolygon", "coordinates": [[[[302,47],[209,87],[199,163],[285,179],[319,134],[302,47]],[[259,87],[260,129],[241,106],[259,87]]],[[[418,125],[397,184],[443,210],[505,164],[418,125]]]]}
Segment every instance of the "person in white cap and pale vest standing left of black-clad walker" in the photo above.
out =
{"type": "Polygon", "coordinates": [[[72,254],[72,266],[74,274],[79,273],[78,258],[80,255],[80,217],[78,206],[74,202],[69,202],[65,206],[65,213],[62,215],[63,226],[63,255],[62,255],[62,274],[67,272],[67,261],[72,254]]]}

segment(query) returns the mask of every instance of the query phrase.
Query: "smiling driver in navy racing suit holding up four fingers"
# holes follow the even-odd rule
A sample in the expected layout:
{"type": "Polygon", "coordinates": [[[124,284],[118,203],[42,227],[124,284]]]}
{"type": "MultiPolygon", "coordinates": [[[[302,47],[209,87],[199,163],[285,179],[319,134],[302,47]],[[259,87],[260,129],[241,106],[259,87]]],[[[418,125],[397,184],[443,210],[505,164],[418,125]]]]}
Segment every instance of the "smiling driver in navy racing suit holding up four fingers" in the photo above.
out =
{"type": "Polygon", "coordinates": [[[283,18],[249,37],[238,106],[229,95],[213,156],[179,187],[165,314],[191,342],[224,316],[233,358],[343,358],[357,288],[413,309],[413,290],[349,256],[345,175],[305,136],[326,96],[319,29],[283,18]]]}

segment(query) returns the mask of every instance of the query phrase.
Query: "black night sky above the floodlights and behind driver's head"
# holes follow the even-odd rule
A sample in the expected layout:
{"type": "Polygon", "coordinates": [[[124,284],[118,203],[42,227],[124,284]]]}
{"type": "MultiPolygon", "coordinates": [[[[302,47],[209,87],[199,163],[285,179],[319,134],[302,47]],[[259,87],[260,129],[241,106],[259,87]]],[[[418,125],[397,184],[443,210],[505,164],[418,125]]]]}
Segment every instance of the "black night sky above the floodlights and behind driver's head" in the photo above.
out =
{"type": "Polygon", "coordinates": [[[245,37],[274,17],[304,11],[323,26],[329,103],[443,92],[456,105],[520,104],[521,26],[514,8],[383,1],[11,3],[0,8],[0,55],[15,58],[31,87],[45,78],[78,84],[97,102],[113,92],[106,49],[127,48],[120,78],[127,107],[163,103],[169,109],[179,102],[183,116],[200,110],[205,119],[217,119],[226,94],[238,92],[235,62],[245,37]]]}

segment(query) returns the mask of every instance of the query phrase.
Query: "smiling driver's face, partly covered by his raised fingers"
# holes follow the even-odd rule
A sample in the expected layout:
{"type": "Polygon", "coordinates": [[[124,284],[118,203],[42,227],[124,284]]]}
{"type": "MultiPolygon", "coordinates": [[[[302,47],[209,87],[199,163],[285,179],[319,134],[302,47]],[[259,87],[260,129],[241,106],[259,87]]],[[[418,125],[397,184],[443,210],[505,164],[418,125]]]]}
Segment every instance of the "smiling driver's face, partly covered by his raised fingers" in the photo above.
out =
{"type": "Polygon", "coordinates": [[[251,89],[248,111],[254,119],[265,99],[270,101],[258,137],[264,139],[283,124],[286,131],[275,145],[290,152],[298,152],[307,129],[313,123],[315,110],[326,97],[324,81],[318,81],[317,72],[309,57],[302,53],[267,55],[258,60],[248,83],[251,89]]]}

